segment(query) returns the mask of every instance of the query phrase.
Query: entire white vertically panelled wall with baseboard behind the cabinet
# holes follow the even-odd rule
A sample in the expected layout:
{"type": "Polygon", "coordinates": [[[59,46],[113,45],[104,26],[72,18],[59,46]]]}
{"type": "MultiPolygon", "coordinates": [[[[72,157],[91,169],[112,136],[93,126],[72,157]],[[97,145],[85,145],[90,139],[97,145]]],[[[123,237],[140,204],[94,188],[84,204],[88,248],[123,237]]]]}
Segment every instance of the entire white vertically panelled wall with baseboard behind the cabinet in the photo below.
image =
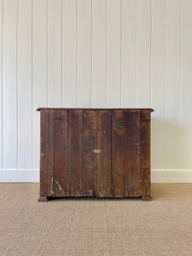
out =
{"type": "Polygon", "coordinates": [[[192,0],[0,0],[0,181],[38,181],[38,107],[154,108],[152,181],[192,182],[192,0]]]}

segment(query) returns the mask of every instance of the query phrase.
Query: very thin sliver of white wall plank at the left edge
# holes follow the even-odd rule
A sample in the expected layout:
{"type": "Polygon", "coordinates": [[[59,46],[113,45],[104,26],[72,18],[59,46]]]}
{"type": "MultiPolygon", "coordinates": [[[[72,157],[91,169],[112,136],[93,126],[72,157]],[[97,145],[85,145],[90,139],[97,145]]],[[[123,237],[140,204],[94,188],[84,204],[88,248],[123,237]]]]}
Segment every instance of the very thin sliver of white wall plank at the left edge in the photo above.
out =
{"type": "Polygon", "coordinates": [[[3,64],[3,0],[0,0],[0,171],[2,171],[2,99],[3,99],[3,74],[2,74],[2,64],[3,64]]]}

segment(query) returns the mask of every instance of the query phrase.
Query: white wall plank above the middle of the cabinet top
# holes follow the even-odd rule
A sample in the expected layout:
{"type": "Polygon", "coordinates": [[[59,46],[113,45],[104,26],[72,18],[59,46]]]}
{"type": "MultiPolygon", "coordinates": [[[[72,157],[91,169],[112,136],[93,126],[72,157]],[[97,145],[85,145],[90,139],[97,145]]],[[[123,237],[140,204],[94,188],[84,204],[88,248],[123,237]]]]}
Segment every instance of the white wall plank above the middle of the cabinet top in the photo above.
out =
{"type": "Polygon", "coordinates": [[[92,1],[92,107],[106,106],[106,1],[92,1]]]}

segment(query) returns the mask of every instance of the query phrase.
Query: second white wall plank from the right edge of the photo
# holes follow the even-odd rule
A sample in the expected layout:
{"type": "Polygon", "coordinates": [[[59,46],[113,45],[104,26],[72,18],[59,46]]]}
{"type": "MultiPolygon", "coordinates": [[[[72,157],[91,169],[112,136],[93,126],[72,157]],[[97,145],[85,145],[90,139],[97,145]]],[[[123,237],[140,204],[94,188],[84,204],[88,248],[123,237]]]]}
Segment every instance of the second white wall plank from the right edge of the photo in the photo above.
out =
{"type": "Polygon", "coordinates": [[[166,169],[179,170],[181,1],[166,1],[166,169]]]}

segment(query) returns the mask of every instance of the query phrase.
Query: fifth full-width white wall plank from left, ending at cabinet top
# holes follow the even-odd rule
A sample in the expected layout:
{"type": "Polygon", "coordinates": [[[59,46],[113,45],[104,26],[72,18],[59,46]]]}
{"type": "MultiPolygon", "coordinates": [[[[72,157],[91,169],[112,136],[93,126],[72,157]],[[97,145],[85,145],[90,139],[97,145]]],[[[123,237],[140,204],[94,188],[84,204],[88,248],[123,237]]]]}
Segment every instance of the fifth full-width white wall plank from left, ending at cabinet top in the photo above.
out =
{"type": "Polygon", "coordinates": [[[62,105],[75,108],[77,100],[77,1],[62,2],[62,105]]]}

